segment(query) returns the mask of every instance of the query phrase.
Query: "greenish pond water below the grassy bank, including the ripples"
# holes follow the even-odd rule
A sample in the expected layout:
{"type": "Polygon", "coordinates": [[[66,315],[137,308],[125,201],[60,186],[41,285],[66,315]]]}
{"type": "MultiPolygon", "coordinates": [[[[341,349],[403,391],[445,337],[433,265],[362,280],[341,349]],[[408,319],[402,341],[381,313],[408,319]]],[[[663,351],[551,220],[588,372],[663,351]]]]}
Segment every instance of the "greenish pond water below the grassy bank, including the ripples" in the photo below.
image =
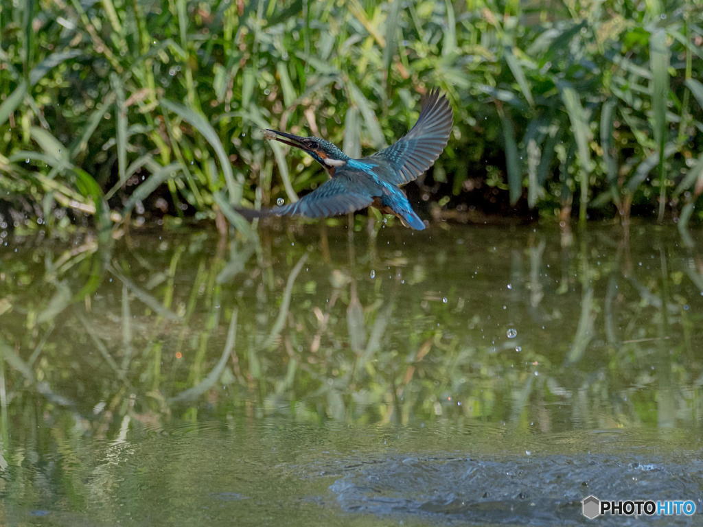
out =
{"type": "Polygon", "coordinates": [[[591,493],[703,509],[700,233],[259,238],[4,238],[1,524],[581,524],[591,493]]]}

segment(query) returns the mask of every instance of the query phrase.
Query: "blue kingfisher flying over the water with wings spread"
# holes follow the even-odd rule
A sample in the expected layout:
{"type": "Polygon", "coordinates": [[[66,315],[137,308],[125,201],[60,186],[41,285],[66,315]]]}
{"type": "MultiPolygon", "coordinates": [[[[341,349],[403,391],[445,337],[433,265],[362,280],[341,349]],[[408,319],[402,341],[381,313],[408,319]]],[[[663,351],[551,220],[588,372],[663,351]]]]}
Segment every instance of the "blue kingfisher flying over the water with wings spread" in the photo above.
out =
{"type": "Polygon", "coordinates": [[[431,91],[424,99],[418,122],[388,148],[352,159],[337,145],[317,137],[300,137],[267,129],[264,137],[295,146],[320,163],[330,179],[299,201],[271,209],[239,209],[248,218],[307,216],[324,218],[377,207],[415,230],[425,223],[415,214],[399,186],[413,181],[437,160],[449,141],[453,115],[446,96],[431,91]]]}

